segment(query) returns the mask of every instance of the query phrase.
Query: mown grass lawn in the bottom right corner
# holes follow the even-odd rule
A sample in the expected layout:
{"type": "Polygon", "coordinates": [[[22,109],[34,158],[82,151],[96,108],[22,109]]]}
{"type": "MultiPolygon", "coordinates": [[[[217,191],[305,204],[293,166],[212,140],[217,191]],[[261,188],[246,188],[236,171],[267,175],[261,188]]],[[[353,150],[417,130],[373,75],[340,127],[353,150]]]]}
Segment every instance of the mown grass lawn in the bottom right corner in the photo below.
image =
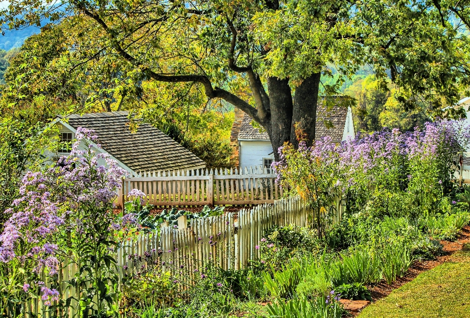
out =
{"type": "Polygon", "coordinates": [[[469,318],[470,246],[366,307],[359,318],[469,318]]]}

